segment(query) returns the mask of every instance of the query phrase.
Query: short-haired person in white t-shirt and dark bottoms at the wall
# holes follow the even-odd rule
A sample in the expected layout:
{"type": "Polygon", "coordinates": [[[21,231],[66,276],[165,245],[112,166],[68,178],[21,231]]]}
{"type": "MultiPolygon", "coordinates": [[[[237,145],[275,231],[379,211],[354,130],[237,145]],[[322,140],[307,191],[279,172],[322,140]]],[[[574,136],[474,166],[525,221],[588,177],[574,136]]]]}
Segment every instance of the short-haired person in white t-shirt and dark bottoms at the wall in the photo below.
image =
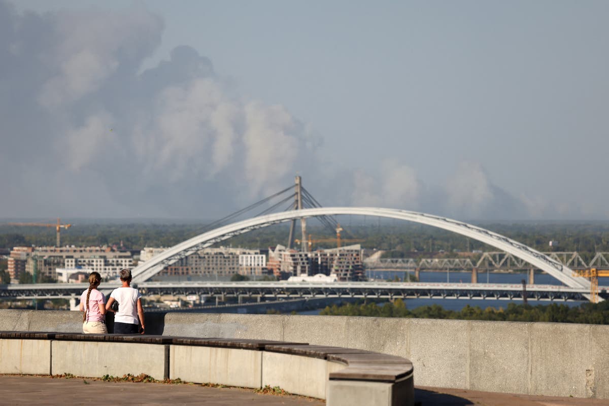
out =
{"type": "Polygon", "coordinates": [[[114,312],[114,334],[144,334],[144,309],[137,289],[130,287],[131,271],[121,270],[122,286],[110,293],[106,310],[114,312]],[[114,301],[118,310],[112,309],[114,301]]]}

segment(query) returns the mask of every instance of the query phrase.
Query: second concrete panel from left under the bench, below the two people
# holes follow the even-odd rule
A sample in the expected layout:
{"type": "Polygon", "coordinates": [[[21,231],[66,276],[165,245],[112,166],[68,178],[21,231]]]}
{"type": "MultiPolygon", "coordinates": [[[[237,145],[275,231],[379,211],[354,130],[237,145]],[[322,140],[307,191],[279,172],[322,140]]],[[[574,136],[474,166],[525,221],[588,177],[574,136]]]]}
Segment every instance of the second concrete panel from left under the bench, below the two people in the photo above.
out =
{"type": "Polygon", "coordinates": [[[51,374],[166,378],[165,346],[103,341],[51,341],[51,374]]]}

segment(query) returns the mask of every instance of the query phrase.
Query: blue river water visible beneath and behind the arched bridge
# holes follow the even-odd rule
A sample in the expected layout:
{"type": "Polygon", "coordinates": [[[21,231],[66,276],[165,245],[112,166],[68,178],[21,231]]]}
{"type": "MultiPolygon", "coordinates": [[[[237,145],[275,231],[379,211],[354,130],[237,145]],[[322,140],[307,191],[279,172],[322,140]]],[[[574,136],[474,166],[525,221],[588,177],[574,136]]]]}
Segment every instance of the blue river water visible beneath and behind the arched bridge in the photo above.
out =
{"type": "MultiPolygon", "coordinates": [[[[410,276],[414,276],[414,271],[366,271],[366,276],[368,280],[382,280],[385,281],[387,279],[393,279],[396,276],[400,278],[400,281],[408,281],[410,276]]],[[[470,283],[471,282],[471,271],[467,272],[425,272],[421,271],[419,273],[419,278],[421,282],[452,282],[452,283],[470,283]]],[[[499,272],[479,272],[478,273],[478,282],[479,283],[500,283],[500,284],[519,284],[522,283],[523,279],[529,283],[529,274],[528,273],[499,273],[499,272]]],[[[558,281],[547,273],[535,272],[535,284],[538,285],[561,285],[562,282],[558,281]]],[[[599,286],[608,286],[609,278],[599,278],[599,286]]],[[[420,306],[431,306],[432,304],[438,304],[444,309],[447,310],[455,310],[459,311],[463,309],[463,307],[467,306],[478,306],[481,309],[486,309],[487,307],[495,307],[495,309],[499,309],[499,307],[505,309],[507,304],[515,303],[522,304],[522,300],[496,300],[496,299],[404,299],[404,303],[406,303],[407,309],[415,309],[420,306]]],[[[579,306],[582,301],[536,301],[531,300],[529,298],[528,303],[532,306],[536,306],[538,304],[547,305],[550,303],[559,303],[566,304],[569,307],[579,306]]],[[[380,303],[379,306],[383,304],[380,303]]],[[[308,310],[305,312],[299,312],[298,314],[303,315],[316,315],[322,309],[317,310],[308,310]]]]}

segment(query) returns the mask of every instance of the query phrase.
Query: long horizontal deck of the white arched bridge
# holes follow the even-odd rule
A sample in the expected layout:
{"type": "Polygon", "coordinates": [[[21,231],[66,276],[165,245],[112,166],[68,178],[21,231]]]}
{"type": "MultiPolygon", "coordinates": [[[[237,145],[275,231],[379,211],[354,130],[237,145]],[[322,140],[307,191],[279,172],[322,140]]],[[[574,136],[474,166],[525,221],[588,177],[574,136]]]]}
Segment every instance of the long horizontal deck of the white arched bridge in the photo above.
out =
{"type": "MultiPolygon", "coordinates": [[[[52,299],[78,298],[86,284],[0,285],[0,298],[52,299]]],[[[114,287],[102,286],[102,291],[114,287]]],[[[260,296],[263,298],[522,298],[521,284],[470,284],[429,282],[143,282],[138,289],[144,295],[260,296]]],[[[585,300],[587,287],[560,285],[526,285],[530,300],[585,300]]],[[[607,287],[599,287],[605,296],[607,287]]]]}

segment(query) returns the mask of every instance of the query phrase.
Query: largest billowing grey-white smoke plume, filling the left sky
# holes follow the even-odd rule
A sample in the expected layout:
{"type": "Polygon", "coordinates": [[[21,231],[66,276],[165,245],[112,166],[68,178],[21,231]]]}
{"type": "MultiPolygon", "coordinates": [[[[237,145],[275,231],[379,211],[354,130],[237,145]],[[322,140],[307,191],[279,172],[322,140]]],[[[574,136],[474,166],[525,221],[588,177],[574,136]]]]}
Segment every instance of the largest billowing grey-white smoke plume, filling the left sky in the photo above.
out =
{"type": "Polygon", "coordinates": [[[191,47],[140,72],[163,33],[146,9],[19,14],[0,0],[0,23],[5,214],[214,218],[316,166],[305,125],[231,94],[191,47]]]}

